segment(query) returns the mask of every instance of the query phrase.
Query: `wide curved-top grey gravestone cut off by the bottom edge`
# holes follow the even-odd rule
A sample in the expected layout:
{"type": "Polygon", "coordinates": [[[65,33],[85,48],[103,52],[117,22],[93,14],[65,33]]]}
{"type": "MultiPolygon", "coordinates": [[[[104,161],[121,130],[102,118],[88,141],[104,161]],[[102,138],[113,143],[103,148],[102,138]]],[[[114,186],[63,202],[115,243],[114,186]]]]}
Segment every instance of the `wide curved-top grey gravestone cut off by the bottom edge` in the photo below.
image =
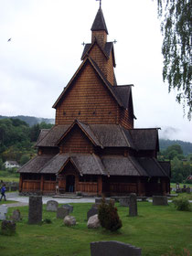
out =
{"type": "Polygon", "coordinates": [[[142,250],[120,241],[91,242],[91,256],[141,256],[142,250]]]}

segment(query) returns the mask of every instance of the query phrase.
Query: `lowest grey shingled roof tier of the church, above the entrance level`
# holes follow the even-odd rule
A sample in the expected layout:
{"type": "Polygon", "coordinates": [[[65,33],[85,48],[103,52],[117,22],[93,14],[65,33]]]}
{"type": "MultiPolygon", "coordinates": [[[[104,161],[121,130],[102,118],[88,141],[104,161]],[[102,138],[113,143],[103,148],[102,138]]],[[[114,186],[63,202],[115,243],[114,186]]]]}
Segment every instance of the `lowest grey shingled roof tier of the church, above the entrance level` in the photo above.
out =
{"type": "Polygon", "coordinates": [[[19,173],[59,174],[71,162],[80,175],[169,176],[163,166],[150,157],[95,154],[37,155],[19,173]]]}

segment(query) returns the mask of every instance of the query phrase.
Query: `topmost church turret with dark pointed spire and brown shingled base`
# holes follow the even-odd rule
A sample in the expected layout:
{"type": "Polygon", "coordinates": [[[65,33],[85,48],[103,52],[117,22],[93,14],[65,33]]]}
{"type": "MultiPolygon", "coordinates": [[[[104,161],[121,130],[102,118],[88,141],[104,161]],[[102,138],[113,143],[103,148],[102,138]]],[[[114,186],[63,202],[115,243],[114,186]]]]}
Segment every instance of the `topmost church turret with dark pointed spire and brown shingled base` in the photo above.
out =
{"type": "Polygon", "coordinates": [[[101,47],[104,47],[105,43],[107,42],[108,30],[101,7],[99,8],[97,15],[95,16],[91,31],[91,42],[93,43],[95,40],[97,40],[100,43],[101,47]]]}

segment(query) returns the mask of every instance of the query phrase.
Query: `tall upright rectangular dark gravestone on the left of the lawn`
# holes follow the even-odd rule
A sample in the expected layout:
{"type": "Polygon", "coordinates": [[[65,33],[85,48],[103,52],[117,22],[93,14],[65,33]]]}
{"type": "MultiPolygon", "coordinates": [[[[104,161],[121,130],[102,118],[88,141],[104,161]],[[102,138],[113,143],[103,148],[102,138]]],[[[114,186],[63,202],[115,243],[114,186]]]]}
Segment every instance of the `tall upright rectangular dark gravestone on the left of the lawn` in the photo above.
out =
{"type": "Polygon", "coordinates": [[[30,196],[28,206],[28,224],[40,224],[42,221],[42,197],[30,196]]]}

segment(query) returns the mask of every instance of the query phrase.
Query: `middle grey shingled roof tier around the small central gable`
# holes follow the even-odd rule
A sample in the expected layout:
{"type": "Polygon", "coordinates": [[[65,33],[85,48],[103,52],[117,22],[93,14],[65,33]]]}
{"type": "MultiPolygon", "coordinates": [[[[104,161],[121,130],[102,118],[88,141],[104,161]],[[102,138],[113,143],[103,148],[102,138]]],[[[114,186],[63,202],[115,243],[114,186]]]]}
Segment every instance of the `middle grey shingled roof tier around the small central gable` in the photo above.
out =
{"type": "Polygon", "coordinates": [[[58,147],[62,139],[70,133],[74,125],[78,125],[95,146],[129,147],[134,150],[158,150],[158,130],[125,129],[119,124],[86,124],[75,120],[72,124],[56,125],[48,133],[41,134],[37,146],[58,147]]]}

